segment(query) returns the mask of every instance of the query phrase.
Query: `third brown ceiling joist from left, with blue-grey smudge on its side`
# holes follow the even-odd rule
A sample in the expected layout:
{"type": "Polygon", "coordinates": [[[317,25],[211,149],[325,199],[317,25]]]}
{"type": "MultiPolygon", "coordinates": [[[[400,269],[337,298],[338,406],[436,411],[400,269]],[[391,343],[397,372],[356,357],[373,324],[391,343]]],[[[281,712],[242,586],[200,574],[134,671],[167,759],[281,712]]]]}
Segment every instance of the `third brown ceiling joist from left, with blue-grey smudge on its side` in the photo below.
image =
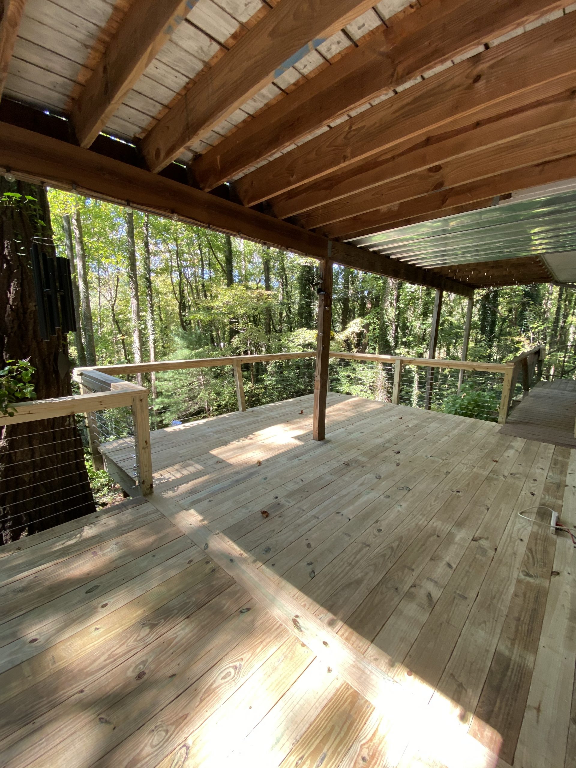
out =
{"type": "Polygon", "coordinates": [[[157,172],[373,0],[282,0],[208,69],[142,139],[157,172]],[[312,41],[312,43],[310,43],[312,41]]]}

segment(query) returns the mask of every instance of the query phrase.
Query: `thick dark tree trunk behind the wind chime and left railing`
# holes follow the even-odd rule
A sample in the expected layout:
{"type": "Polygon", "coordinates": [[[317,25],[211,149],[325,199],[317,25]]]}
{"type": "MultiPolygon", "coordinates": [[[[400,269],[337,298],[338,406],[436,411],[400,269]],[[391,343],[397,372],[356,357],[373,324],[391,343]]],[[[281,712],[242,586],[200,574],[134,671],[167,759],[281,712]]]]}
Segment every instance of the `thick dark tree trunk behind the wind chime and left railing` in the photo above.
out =
{"type": "MultiPolygon", "coordinates": [[[[35,184],[8,182],[5,192],[22,195],[0,204],[0,362],[29,359],[38,399],[71,394],[70,373],[62,363],[68,350],[60,331],[40,338],[38,310],[30,266],[32,237],[42,237],[42,250],[55,255],[45,190],[35,184]],[[30,195],[37,202],[23,202],[30,195]],[[61,371],[58,371],[60,357],[61,371]]],[[[54,525],[94,512],[84,450],[73,416],[0,427],[0,542],[15,541],[54,525]]]]}

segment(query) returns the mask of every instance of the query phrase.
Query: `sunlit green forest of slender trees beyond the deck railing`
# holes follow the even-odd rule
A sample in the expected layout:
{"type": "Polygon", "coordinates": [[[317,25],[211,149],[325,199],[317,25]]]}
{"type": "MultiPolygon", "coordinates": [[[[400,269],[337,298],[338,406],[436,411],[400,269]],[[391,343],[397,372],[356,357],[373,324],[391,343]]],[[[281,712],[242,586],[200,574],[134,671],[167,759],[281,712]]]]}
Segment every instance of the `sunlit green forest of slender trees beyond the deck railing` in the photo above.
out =
{"type": "MultiPolygon", "coordinates": [[[[49,190],[58,255],[78,273],[77,365],[292,352],[316,346],[316,261],[49,190]]],[[[434,291],[335,266],[333,349],[427,356],[434,291]]],[[[446,294],[437,357],[459,359],[467,301],[446,294]]],[[[468,359],[508,362],[547,346],[545,377],[574,376],[574,291],[551,284],[478,290],[468,359]]],[[[331,364],[333,389],[386,399],[365,366],[331,364]]],[[[313,360],[250,366],[249,405],[310,392],[313,360]]],[[[147,378],[155,425],[235,409],[229,372],[147,378]]]]}

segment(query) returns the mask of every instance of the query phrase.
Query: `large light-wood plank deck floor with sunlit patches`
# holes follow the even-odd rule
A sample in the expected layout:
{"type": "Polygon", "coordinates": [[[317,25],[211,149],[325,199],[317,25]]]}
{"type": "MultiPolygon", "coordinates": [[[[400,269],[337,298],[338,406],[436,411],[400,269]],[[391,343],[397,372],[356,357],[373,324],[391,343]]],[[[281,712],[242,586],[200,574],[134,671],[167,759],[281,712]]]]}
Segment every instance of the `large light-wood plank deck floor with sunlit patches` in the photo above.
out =
{"type": "Polygon", "coordinates": [[[0,548],[1,766],[573,768],[574,548],[518,512],[576,525],[576,453],[311,415],[154,432],[153,496],[0,548]]]}

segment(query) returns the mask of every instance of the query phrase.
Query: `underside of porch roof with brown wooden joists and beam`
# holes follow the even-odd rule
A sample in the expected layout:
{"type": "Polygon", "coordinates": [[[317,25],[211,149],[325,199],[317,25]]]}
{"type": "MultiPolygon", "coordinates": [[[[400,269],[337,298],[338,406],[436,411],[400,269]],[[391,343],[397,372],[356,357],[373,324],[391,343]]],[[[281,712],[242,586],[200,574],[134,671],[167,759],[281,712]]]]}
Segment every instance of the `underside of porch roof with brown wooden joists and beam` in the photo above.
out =
{"type": "MultiPolygon", "coordinates": [[[[495,200],[504,216],[510,195],[576,177],[573,9],[6,0],[0,167],[464,296],[554,280],[526,243],[445,262],[366,235],[486,220],[495,200]]],[[[551,205],[555,252],[574,250],[551,205]]]]}

